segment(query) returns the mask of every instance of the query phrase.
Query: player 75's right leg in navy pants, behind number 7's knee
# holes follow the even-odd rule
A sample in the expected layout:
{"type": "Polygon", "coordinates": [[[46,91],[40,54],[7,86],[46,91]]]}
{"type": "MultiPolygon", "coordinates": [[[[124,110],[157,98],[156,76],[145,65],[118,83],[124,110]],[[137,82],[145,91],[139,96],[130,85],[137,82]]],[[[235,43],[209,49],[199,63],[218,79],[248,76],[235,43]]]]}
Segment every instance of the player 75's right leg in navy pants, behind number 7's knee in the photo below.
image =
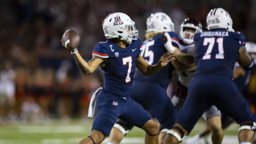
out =
{"type": "Polygon", "coordinates": [[[176,118],[176,108],[172,105],[166,94],[165,87],[158,83],[135,81],[133,83],[131,98],[140,103],[143,108],[158,119],[160,123],[159,144],[164,142],[166,132],[173,126],[176,118]]]}

